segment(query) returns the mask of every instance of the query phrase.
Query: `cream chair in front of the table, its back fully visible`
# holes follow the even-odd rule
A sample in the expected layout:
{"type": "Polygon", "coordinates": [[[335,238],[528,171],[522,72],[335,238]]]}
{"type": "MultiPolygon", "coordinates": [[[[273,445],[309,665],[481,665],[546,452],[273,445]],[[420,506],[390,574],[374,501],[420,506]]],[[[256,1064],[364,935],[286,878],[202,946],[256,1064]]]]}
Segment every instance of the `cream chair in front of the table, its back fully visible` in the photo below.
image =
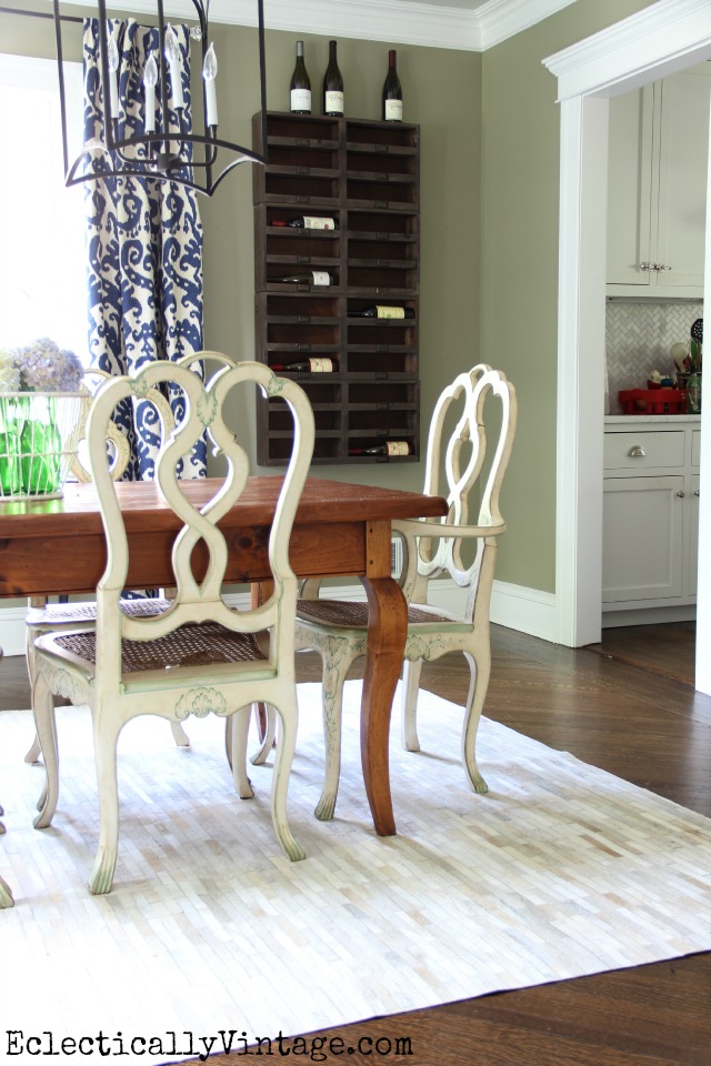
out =
{"type": "Polygon", "coordinates": [[[289,537],[313,451],[313,413],[304,392],[259,363],[231,363],[214,352],[181,363],[151,363],[133,378],[114,378],[101,386],[89,415],[91,472],[99,496],[108,549],[107,569],[97,589],[96,630],[44,635],[36,641],[37,680],[33,704],[47,788],[36,826],[48,826],[57,808],[59,761],[53,695],[91,708],[100,803],[99,847],[89,878],[93,893],[109,892],[117,862],[119,802],[117,741],[121,728],[141,714],[170,722],[212,712],[229,718],[242,712],[232,728],[232,765],[240,796],[252,795],[246,773],[249,711],[254,702],[274,707],[279,735],[272,776],[272,821],[289,858],[303,858],[287,819],[287,791],[297,735],[294,628],[297,579],[289,563],[289,537]],[[190,365],[204,358],[222,362],[203,385],[190,365]],[[156,483],[181,519],[172,549],[176,595],[160,615],[134,617],[122,610],[129,557],[116,483],[106,456],[106,434],[117,402],[144,394],[161,382],[179,385],[186,415],[163,444],[156,483]],[[293,451],[269,535],[273,591],[256,610],[233,610],[222,600],[228,551],[218,527],[239,499],[249,474],[248,455],[228,429],[222,410],[234,389],[257,384],[286,401],[294,423],[293,451]],[[186,500],[176,463],[207,429],[228,460],[220,490],[200,512],[186,500]],[[191,553],[202,541],[209,552],[207,575],[198,581],[191,553]],[[258,638],[259,637],[259,638],[258,638]]]}

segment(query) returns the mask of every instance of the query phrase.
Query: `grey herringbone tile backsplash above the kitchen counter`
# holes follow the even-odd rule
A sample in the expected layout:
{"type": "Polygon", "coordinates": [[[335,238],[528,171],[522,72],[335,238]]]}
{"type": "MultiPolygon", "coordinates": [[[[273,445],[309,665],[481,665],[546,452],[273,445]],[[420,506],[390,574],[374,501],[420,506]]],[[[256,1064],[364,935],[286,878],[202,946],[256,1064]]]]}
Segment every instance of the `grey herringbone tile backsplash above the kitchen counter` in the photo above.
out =
{"type": "Polygon", "coordinates": [[[674,375],[669,349],[677,341],[685,343],[691,324],[702,316],[701,300],[668,303],[608,300],[605,350],[610,414],[622,413],[618,402],[620,390],[645,389],[653,370],[674,375]]]}

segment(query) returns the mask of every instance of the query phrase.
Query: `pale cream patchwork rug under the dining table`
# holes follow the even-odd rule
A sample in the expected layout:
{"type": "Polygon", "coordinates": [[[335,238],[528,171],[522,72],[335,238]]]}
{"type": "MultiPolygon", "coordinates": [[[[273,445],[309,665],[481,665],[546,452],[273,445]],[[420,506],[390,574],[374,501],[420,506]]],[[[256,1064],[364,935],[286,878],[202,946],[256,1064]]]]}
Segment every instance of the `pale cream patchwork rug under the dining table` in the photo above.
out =
{"type": "Polygon", "coordinates": [[[106,1063],[101,1032],[119,1062],[170,1062],[204,1052],[202,1038],[222,1050],[221,1030],[239,1049],[711,948],[711,822],[489,721],[490,792],[477,796],[459,761],[461,711],[423,692],[423,753],[401,751],[393,721],[399,835],[381,839],[360,775],[359,683],[347,690],[337,819],[319,823],[320,690],[300,687],[290,812],[302,863],[276,843],[271,768],[253,770],[254,801],[231,791],[221,723],[190,721],[187,751],[156,718],[128,726],[103,897],[86,888],[88,713],[59,712],[62,790],[43,832],[31,828],[43,771],[22,761],[29,712],[0,714],[0,873],[16,896],[0,912],[0,1060],[37,1063],[18,1052],[38,1037],[29,1049],[52,1062],[106,1063]],[[62,1037],[94,1043],[57,1055],[62,1037]]]}

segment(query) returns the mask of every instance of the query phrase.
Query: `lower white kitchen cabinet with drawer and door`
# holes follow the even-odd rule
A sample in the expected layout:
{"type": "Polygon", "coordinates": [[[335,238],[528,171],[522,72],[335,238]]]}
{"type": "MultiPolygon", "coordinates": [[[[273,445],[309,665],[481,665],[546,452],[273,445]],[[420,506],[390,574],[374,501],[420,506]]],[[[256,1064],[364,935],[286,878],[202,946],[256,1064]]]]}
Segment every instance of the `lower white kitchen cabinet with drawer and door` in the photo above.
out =
{"type": "MultiPolygon", "coordinates": [[[[602,610],[689,607],[699,550],[698,420],[605,425],[602,610]]],[[[630,623],[631,624],[631,623],[630,623]]]]}

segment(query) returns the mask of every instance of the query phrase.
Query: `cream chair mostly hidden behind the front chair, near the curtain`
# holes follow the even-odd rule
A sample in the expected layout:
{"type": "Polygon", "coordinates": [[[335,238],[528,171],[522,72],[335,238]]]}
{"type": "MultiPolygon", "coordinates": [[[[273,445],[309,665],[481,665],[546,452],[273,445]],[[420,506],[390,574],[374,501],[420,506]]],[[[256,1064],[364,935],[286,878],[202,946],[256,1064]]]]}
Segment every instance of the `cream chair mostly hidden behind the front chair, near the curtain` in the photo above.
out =
{"type": "MultiPolygon", "coordinates": [[[[89,370],[84,374],[84,384],[89,392],[81,402],[79,412],[79,423],[77,425],[78,451],[71,466],[71,474],[78,482],[91,481],[91,474],[88,470],[87,455],[87,419],[91,411],[93,394],[100,384],[111,379],[102,370],[89,370]]],[[[152,389],[146,400],[150,400],[154,411],[156,422],[161,422],[161,435],[166,436],[173,428],[173,416],[170,404],[158,389],[152,389]]],[[[126,435],[121,432],[116,422],[109,423],[107,431],[108,451],[111,463],[111,476],[119,481],[123,475],[131,457],[131,450],[126,435]]],[[[129,614],[160,614],[168,606],[166,600],[140,599],[126,600],[123,610],[129,614]]],[[[70,630],[91,628],[97,621],[97,604],[94,601],[73,602],[73,603],[49,603],[48,596],[30,596],[28,603],[28,613],[26,616],[26,660],[27,672],[30,678],[30,688],[34,686],[34,641],[42,633],[68,633],[70,630]]],[[[183,727],[178,722],[171,722],[170,728],[173,740],[179,747],[190,747],[190,740],[183,727]]],[[[36,763],[40,755],[40,743],[34,736],[32,745],[24,756],[26,763],[36,763]]]]}

